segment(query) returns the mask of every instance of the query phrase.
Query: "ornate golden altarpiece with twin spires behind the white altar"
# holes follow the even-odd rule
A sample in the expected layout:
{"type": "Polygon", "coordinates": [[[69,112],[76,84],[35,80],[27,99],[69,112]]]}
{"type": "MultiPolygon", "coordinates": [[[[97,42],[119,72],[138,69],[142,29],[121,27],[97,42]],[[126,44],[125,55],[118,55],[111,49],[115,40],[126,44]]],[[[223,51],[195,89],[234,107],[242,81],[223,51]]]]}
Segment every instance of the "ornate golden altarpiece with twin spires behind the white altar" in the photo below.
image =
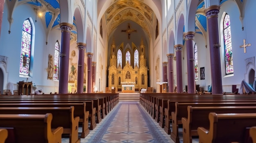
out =
{"type": "MultiPolygon", "coordinates": [[[[139,65],[134,68],[126,61],[124,68],[119,64],[117,66],[117,55],[115,52],[115,42],[113,40],[112,55],[110,56],[110,66],[108,68],[108,85],[109,88],[121,89],[122,92],[140,91],[142,88],[148,88],[148,67],[146,66],[145,46],[141,39],[139,52],[139,65]]],[[[122,54],[124,55],[124,54],[122,54]]],[[[131,54],[134,55],[134,54],[131,54]]],[[[122,56],[123,57],[123,56],[122,56]]],[[[131,58],[133,58],[132,56],[131,58]]]]}

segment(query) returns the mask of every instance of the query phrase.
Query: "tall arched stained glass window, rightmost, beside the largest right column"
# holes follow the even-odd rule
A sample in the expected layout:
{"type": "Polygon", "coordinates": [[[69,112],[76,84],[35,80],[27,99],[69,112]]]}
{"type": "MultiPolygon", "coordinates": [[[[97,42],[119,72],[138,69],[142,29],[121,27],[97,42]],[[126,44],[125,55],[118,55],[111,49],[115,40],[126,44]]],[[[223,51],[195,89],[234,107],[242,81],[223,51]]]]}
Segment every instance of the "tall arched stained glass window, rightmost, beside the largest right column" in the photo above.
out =
{"type": "Polygon", "coordinates": [[[231,28],[230,28],[230,18],[226,14],[223,22],[224,29],[224,47],[225,47],[225,67],[226,75],[234,73],[233,66],[233,55],[232,55],[232,44],[231,44],[231,28]]]}

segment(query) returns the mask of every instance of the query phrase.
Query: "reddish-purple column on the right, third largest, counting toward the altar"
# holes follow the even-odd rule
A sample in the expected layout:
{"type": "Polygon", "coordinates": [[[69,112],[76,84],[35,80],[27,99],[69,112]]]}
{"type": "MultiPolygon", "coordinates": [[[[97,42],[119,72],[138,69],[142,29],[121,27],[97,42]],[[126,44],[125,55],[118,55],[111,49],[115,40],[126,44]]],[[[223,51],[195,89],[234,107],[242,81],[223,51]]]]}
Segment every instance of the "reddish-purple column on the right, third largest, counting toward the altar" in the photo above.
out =
{"type": "Polygon", "coordinates": [[[183,92],[182,85],[182,44],[174,45],[176,51],[176,68],[177,68],[177,93],[183,92]]]}

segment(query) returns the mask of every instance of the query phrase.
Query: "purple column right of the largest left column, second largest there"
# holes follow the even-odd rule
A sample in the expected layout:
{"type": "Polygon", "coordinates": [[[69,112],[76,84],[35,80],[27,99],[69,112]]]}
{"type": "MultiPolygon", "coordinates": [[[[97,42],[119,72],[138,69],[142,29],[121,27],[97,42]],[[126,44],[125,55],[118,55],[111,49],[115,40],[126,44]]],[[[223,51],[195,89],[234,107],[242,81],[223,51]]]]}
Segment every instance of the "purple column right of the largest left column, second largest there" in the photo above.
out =
{"type": "Polygon", "coordinates": [[[78,59],[78,70],[77,70],[77,93],[83,93],[83,75],[84,75],[84,53],[86,44],[85,43],[77,43],[77,47],[79,49],[79,59],[78,59]]]}

